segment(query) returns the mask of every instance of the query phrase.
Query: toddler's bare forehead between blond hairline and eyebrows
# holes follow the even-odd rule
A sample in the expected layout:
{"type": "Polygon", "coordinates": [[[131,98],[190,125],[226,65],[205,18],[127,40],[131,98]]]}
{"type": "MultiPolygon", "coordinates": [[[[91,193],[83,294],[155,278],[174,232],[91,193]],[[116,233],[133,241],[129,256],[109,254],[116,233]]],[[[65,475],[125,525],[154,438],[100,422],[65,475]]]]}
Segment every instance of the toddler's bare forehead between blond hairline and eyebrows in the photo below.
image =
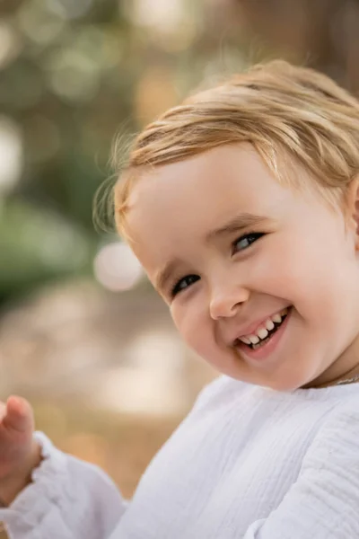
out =
{"type": "Polygon", "coordinates": [[[293,212],[295,199],[298,193],[271,177],[252,146],[220,146],[144,172],[129,199],[127,225],[146,265],[240,212],[274,218],[293,212]]]}

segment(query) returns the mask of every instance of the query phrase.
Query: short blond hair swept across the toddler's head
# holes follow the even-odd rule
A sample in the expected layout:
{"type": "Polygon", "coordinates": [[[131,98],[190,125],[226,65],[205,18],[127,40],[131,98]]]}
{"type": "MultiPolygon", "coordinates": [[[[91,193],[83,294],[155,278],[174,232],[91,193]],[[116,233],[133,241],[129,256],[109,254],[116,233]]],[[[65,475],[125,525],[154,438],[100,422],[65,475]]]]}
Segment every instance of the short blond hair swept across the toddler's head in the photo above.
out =
{"type": "Polygon", "coordinates": [[[254,146],[278,181],[296,187],[301,178],[285,163],[301,163],[323,198],[338,206],[359,172],[359,102],[328,76],[281,60],[192,95],[134,140],[115,186],[118,232],[127,235],[132,186],[148,167],[240,142],[254,146]]]}

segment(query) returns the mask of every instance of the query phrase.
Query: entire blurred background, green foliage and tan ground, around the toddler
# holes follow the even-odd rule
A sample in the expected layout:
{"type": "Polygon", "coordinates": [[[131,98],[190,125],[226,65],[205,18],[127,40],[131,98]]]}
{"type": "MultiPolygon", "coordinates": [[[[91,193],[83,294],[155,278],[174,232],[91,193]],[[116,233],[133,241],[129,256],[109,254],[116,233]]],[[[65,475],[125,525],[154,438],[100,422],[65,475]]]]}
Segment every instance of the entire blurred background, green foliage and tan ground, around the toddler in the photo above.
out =
{"type": "Polygon", "coordinates": [[[359,2],[1,0],[0,15],[1,398],[29,398],[39,429],[129,496],[216,374],[94,229],[114,136],[273,57],[356,93],[359,2]]]}

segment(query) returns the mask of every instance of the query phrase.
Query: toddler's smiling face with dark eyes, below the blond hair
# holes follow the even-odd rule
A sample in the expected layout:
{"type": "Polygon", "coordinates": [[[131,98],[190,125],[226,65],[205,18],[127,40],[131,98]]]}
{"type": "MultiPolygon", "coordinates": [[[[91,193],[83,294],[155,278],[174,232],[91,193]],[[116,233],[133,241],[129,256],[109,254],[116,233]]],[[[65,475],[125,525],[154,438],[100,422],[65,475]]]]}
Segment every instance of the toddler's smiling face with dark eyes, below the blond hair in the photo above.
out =
{"type": "Polygon", "coordinates": [[[250,145],[145,172],[127,217],[183,339],[222,373],[285,390],[358,362],[355,225],[279,185],[250,145]],[[254,349],[239,340],[258,333],[254,349]]]}

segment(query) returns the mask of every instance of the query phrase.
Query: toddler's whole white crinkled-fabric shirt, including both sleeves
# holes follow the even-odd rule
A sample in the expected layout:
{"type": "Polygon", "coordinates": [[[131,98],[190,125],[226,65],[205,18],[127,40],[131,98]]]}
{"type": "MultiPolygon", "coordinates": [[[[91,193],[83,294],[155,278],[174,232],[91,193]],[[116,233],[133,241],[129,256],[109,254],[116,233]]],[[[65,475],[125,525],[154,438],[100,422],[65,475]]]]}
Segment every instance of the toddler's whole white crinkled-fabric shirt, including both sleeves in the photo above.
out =
{"type": "Polygon", "coordinates": [[[36,436],[45,460],[0,510],[13,539],[359,538],[359,384],[278,393],[218,378],[128,504],[36,436]]]}

